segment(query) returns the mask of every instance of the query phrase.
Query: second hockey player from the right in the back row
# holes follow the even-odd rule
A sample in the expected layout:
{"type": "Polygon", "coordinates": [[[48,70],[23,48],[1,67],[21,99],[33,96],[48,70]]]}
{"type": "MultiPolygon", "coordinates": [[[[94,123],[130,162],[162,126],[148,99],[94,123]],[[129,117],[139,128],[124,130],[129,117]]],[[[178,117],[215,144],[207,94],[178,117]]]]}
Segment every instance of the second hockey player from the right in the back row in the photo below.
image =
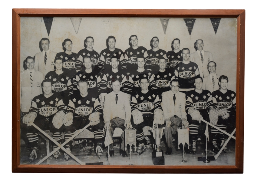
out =
{"type": "Polygon", "coordinates": [[[159,59],[164,58],[166,59],[166,67],[169,68],[169,61],[166,57],[166,51],[159,48],[159,39],[158,37],[153,37],[151,39],[150,45],[152,49],[148,50],[144,56],[149,57],[150,61],[146,63],[146,68],[150,69],[152,72],[159,70],[159,59]]]}

